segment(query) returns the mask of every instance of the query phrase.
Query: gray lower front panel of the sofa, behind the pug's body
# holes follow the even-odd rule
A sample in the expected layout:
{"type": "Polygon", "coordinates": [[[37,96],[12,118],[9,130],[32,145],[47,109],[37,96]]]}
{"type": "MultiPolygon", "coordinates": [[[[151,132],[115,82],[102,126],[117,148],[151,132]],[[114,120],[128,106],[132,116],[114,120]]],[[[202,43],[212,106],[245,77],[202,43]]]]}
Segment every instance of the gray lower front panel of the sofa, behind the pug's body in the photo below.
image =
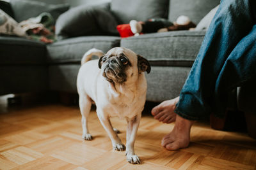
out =
{"type": "MultiPolygon", "coordinates": [[[[51,90],[77,92],[76,79],[80,64],[58,64],[49,66],[49,87],[51,90]]],[[[179,96],[190,67],[153,66],[145,73],[148,83],[147,100],[163,101],[179,96]]]]}

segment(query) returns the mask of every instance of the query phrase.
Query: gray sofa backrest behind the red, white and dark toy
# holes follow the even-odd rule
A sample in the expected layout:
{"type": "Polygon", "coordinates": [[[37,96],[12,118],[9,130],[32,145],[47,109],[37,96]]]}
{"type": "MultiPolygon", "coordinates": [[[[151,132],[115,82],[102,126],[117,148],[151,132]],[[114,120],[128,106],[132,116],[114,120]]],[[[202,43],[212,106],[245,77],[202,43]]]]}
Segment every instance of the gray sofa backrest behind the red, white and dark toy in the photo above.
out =
{"type": "Polygon", "coordinates": [[[120,24],[149,18],[168,18],[173,22],[180,15],[198,24],[218,4],[220,0],[111,0],[111,11],[120,24]]]}

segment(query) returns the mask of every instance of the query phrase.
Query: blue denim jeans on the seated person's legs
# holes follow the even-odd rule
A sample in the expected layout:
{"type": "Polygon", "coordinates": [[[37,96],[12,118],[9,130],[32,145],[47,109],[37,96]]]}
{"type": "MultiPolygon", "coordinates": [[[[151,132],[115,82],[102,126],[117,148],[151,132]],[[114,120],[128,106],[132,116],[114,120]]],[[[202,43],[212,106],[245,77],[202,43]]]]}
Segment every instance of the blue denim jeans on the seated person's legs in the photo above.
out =
{"type": "Polygon", "coordinates": [[[222,0],[180,92],[175,113],[223,117],[228,92],[256,76],[256,1],[222,0]]]}

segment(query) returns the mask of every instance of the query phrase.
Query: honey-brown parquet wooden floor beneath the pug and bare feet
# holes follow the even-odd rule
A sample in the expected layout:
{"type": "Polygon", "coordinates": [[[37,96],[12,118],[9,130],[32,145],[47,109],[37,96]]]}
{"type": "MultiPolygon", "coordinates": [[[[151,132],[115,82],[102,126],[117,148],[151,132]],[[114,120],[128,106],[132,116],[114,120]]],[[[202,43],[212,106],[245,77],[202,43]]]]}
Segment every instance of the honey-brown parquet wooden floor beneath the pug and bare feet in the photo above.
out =
{"type": "MultiPolygon", "coordinates": [[[[161,138],[173,124],[143,115],[135,152],[142,164],[126,162],[125,152],[112,150],[95,111],[84,141],[78,107],[46,105],[0,114],[0,169],[256,169],[256,141],[246,134],[212,130],[196,123],[189,148],[168,151],[161,138]]],[[[112,118],[125,142],[126,122],[112,118]]]]}

